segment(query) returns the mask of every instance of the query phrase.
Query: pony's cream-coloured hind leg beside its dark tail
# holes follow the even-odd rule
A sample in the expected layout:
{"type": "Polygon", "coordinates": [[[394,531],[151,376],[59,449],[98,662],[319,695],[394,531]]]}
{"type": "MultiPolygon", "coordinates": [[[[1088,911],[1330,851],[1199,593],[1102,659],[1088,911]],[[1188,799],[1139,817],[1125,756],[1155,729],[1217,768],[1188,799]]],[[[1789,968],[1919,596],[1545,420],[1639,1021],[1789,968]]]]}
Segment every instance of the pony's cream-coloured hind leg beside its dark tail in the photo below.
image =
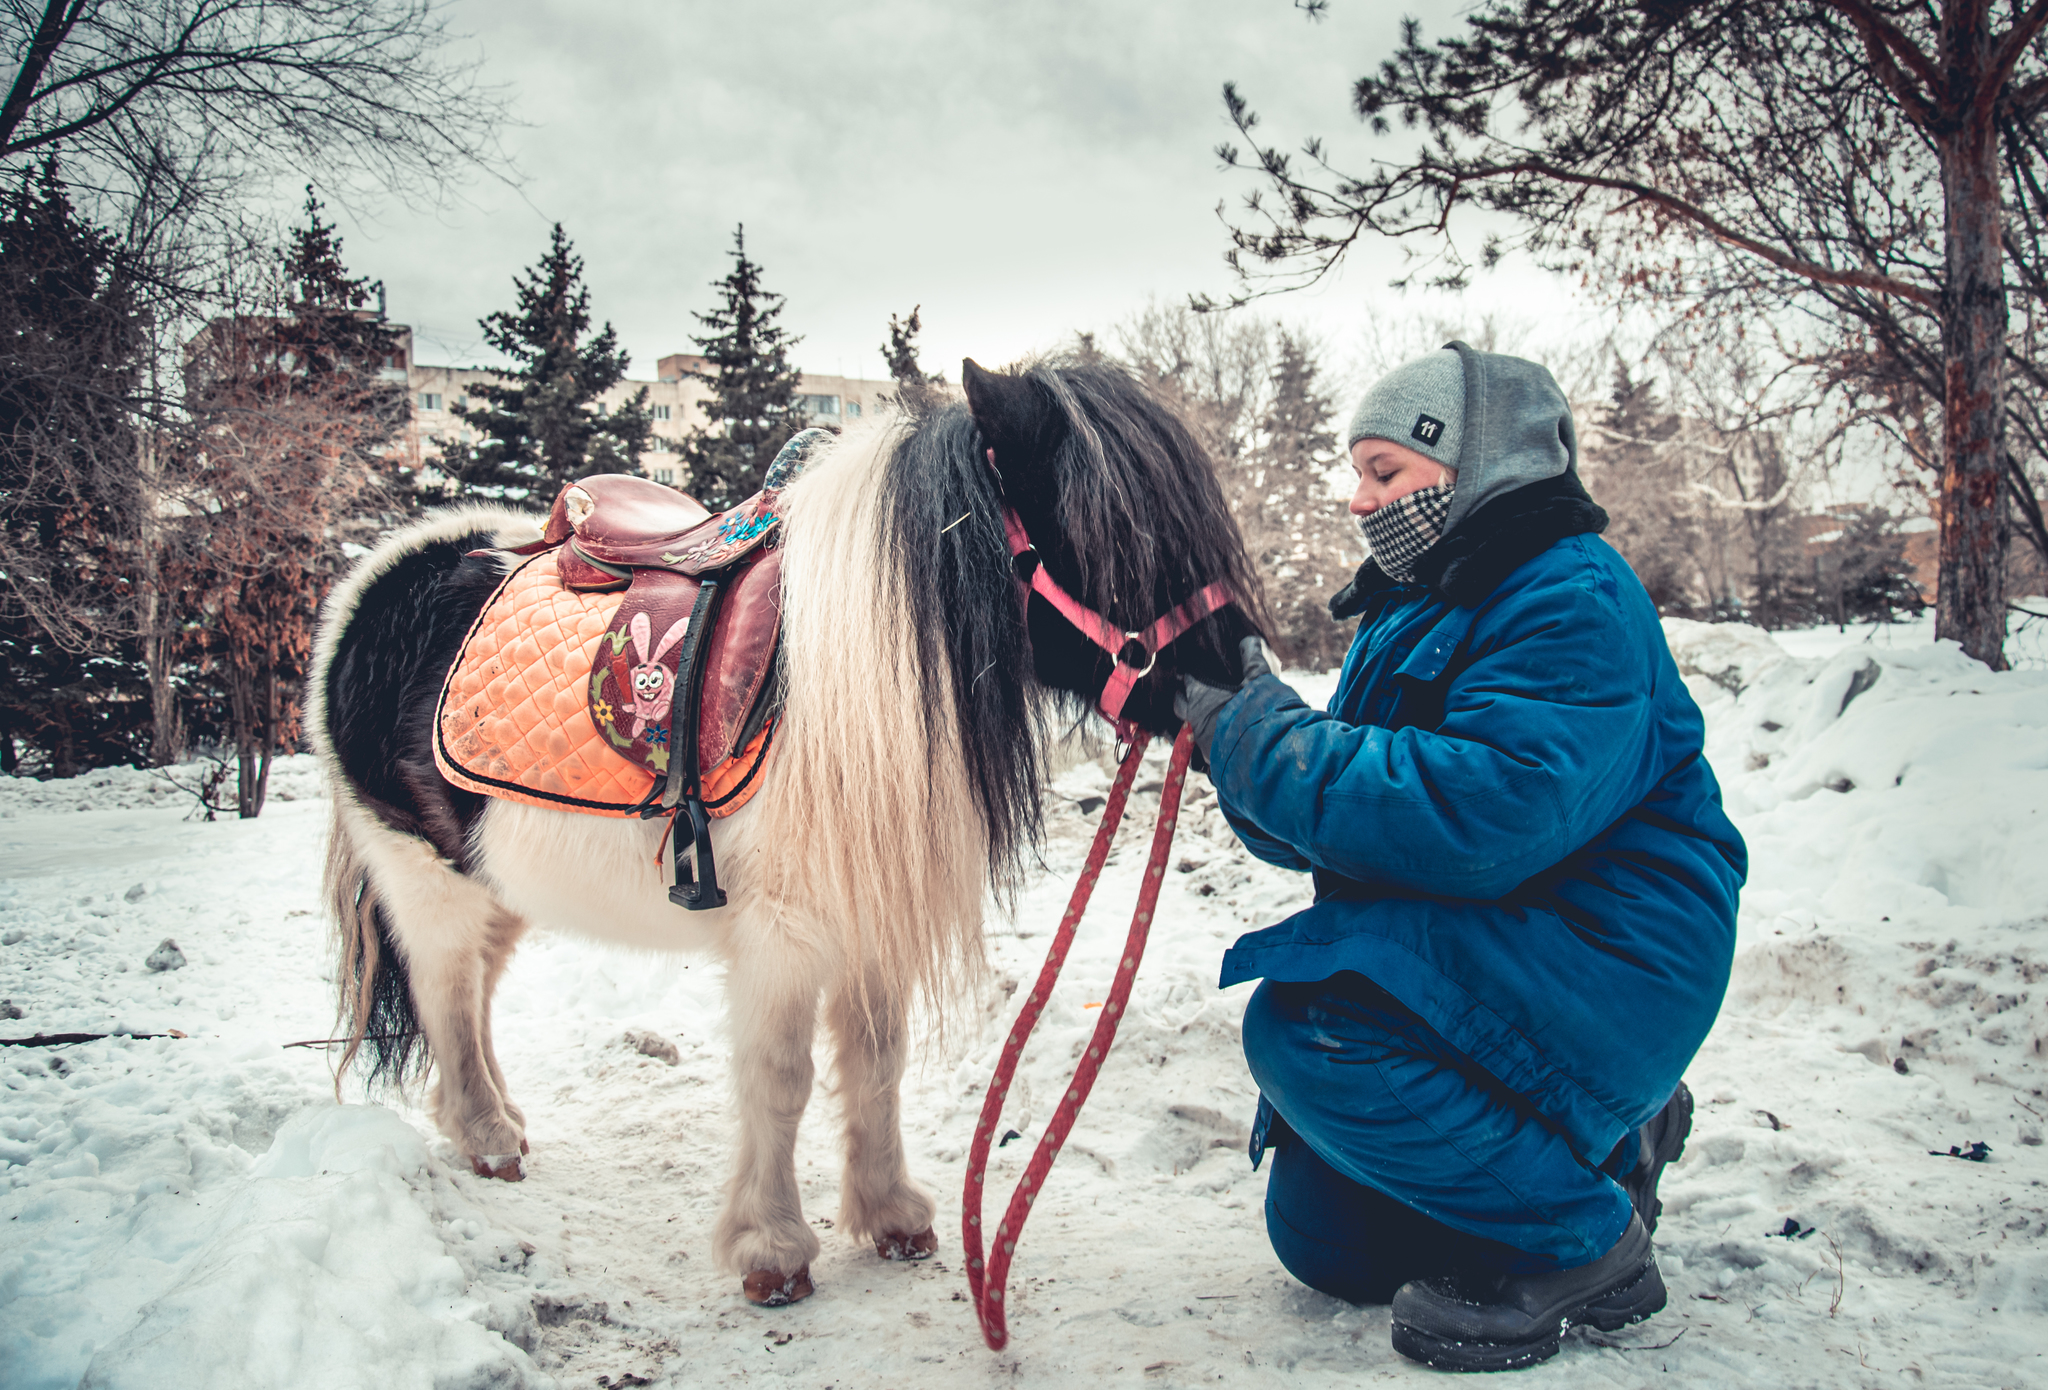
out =
{"type": "Polygon", "coordinates": [[[393,944],[406,958],[412,1005],[434,1058],[434,1124],[479,1177],[526,1175],[526,1120],[506,1097],[492,1052],[492,991],[526,921],[432,845],[375,827],[362,858],[393,944]]]}

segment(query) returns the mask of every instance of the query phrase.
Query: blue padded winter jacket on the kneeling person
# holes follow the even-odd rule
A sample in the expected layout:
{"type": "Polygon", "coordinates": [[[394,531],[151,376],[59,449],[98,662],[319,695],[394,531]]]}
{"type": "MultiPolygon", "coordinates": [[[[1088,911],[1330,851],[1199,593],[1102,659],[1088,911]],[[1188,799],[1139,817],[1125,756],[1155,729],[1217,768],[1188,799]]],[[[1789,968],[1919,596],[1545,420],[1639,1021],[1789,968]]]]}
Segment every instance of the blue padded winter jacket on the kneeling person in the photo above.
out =
{"type": "Polygon", "coordinates": [[[1368,561],[1329,710],[1251,682],[1210,776],[1245,845],[1317,886],[1221,983],[1356,970],[1597,1163],[1712,1028],[1747,854],[1657,610],[1587,534],[1606,514],[1569,465],[1446,536],[1430,583],[1368,561]]]}

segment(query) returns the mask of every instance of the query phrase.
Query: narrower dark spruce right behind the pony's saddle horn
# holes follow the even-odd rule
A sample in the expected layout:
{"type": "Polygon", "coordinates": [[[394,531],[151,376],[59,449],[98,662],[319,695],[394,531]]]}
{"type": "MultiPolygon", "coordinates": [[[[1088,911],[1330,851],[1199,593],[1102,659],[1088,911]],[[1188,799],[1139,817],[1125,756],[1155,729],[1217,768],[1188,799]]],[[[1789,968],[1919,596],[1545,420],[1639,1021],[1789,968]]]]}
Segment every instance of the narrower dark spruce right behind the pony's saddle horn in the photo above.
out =
{"type": "Polygon", "coordinates": [[[762,289],[762,268],[748,260],[745,225],[733,231],[731,272],[713,289],[723,303],[696,315],[707,334],[690,338],[711,368],[688,373],[711,387],[711,428],[698,426],[682,440],[682,459],[690,491],[721,512],[760,489],[776,450],[807,422],[795,405],[803,373],[788,360],[803,340],[776,323],[782,295],[762,289]]]}

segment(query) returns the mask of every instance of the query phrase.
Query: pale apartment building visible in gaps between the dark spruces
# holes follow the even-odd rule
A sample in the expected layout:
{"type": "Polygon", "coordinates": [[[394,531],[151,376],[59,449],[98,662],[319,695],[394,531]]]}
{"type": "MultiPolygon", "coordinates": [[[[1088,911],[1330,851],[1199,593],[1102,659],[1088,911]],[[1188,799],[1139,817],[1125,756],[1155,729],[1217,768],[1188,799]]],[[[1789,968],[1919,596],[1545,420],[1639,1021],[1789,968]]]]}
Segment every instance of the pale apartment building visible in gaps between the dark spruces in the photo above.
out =
{"type": "MultiPolygon", "coordinates": [[[[432,463],[440,452],[438,440],[469,440],[475,432],[451,411],[469,401],[469,393],[485,381],[500,381],[494,371],[479,366],[432,366],[414,360],[412,330],[399,328],[399,348],[391,366],[403,368],[406,389],[412,393],[412,426],[401,448],[418,465],[432,463]]],[[[616,409],[647,387],[647,405],[653,411],[651,448],[641,454],[641,473],[657,483],[682,485],[682,461],[676,457],[682,438],[711,422],[705,399],[711,389],[688,373],[707,371],[702,356],[690,352],[670,352],[655,364],[653,381],[621,381],[598,397],[604,409],[616,409]]],[[[797,389],[797,405],[813,424],[840,426],[864,414],[881,409],[883,395],[893,391],[893,381],[868,381],[864,377],[819,377],[803,375],[797,389]]]]}

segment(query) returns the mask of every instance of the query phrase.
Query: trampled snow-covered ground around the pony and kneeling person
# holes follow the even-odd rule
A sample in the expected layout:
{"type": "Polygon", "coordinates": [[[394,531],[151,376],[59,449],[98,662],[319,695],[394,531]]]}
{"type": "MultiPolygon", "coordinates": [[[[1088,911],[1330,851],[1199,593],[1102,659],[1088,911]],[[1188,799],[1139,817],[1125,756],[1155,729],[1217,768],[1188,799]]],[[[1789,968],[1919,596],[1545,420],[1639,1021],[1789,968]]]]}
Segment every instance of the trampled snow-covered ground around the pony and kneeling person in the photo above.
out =
{"type": "MultiPolygon", "coordinates": [[[[1665,1175],[1669,1310],[1575,1335],[1524,1382],[2048,1384],[2048,674],[1993,676],[1925,624],[1669,628],[1753,854],[1741,956],[1665,1175]],[[1974,1142],[1987,1161],[1946,1157],[1974,1142]]],[[[1047,874],[993,927],[997,981],[1038,968],[1104,784],[1083,762],[1049,794],[1047,874]]],[[[0,1036],[186,1034],[0,1048],[8,1388],[1432,1376],[1393,1355],[1384,1308],[1296,1286],[1266,1245],[1249,987],[1214,979],[1305,882],[1249,862],[1200,778],[1128,1022],[1018,1247],[1004,1353],[979,1341],[956,1251],[1006,993],[967,1005],[905,1087],[940,1255],[883,1265],[827,1232],[817,1296],[752,1308],[709,1259],[731,1138],[713,966],[530,940],[498,1007],[530,1177],[475,1179],[416,1110],[336,1103],[326,1054],[283,1046],[332,1028],[317,772],[281,766],[254,823],[186,821],[156,786],[0,782],[0,1036]],[[184,964],[147,968],[166,938],[184,964]]],[[[1149,802],[1012,1093],[1006,1122],[1032,1140],[1094,1026],[1149,802]]],[[[997,1150],[997,1193],[1028,1148],[997,1150]]],[[[823,1230],[823,1089],[799,1163],[823,1230]]]]}

